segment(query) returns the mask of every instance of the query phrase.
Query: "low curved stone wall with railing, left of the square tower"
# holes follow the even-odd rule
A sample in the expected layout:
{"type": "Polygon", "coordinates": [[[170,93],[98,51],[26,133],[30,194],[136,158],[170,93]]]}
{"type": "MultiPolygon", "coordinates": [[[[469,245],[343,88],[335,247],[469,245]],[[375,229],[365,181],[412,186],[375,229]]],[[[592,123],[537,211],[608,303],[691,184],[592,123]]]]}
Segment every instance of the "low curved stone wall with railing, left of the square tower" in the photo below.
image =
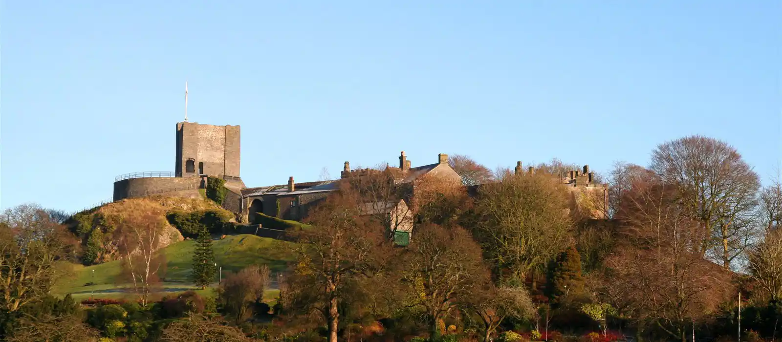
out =
{"type": "Polygon", "coordinates": [[[197,190],[198,177],[145,177],[114,182],[114,201],[138,198],[151,194],[191,193],[197,190]]]}

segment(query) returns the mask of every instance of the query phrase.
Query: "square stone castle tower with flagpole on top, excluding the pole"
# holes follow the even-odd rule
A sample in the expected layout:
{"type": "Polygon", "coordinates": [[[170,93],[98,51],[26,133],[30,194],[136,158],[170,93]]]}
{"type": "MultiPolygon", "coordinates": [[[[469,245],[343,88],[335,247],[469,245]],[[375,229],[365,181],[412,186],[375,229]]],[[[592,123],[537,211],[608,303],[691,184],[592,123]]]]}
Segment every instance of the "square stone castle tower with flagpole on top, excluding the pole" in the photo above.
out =
{"type": "Polygon", "coordinates": [[[239,126],[177,123],[178,176],[239,177],[239,126]]]}

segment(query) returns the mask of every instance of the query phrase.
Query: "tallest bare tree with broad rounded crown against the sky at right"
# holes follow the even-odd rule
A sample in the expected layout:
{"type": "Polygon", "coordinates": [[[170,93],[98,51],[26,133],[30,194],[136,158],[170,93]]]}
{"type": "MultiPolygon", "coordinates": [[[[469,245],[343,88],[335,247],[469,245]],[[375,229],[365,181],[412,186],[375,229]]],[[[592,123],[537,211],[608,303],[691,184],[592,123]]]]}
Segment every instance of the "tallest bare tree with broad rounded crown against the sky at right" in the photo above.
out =
{"type": "Polygon", "coordinates": [[[701,255],[712,251],[729,268],[755,233],[758,175],[729,144],[698,135],[660,144],[652,152],[651,169],[679,187],[683,205],[701,223],[701,255]]]}

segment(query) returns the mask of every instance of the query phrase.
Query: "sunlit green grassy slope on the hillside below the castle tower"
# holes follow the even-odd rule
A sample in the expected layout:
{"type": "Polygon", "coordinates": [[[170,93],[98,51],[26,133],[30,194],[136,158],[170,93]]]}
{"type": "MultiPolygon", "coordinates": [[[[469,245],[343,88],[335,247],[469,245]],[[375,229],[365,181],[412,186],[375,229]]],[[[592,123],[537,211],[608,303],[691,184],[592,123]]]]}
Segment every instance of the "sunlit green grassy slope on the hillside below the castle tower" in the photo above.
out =
{"type": "MultiPolygon", "coordinates": [[[[294,255],[290,251],[292,243],[266,237],[243,234],[213,240],[214,255],[218,266],[227,272],[238,272],[248,265],[267,265],[272,273],[282,271],[294,255]]],[[[163,287],[168,291],[188,290],[192,288],[189,279],[192,252],[195,240],[181,241],[163,249],[167,259],[167,272],[163,278],[163,287]]],[[[100,265],[70,265],[73,275],[57,283],[53,292],[58,295],[73,294],[77,299],[89,297],[94,291],[95,297],[123,297],[124,288],[129,284],[121,276],[121,261],[106,262],[100,265]],[[93,275],[94,271],[94,275],[93,275]],[[84,286],[93,283],[91,286],[84,286]]],[[[215,281],[217,282],[217,281],[215,281]]]]}

